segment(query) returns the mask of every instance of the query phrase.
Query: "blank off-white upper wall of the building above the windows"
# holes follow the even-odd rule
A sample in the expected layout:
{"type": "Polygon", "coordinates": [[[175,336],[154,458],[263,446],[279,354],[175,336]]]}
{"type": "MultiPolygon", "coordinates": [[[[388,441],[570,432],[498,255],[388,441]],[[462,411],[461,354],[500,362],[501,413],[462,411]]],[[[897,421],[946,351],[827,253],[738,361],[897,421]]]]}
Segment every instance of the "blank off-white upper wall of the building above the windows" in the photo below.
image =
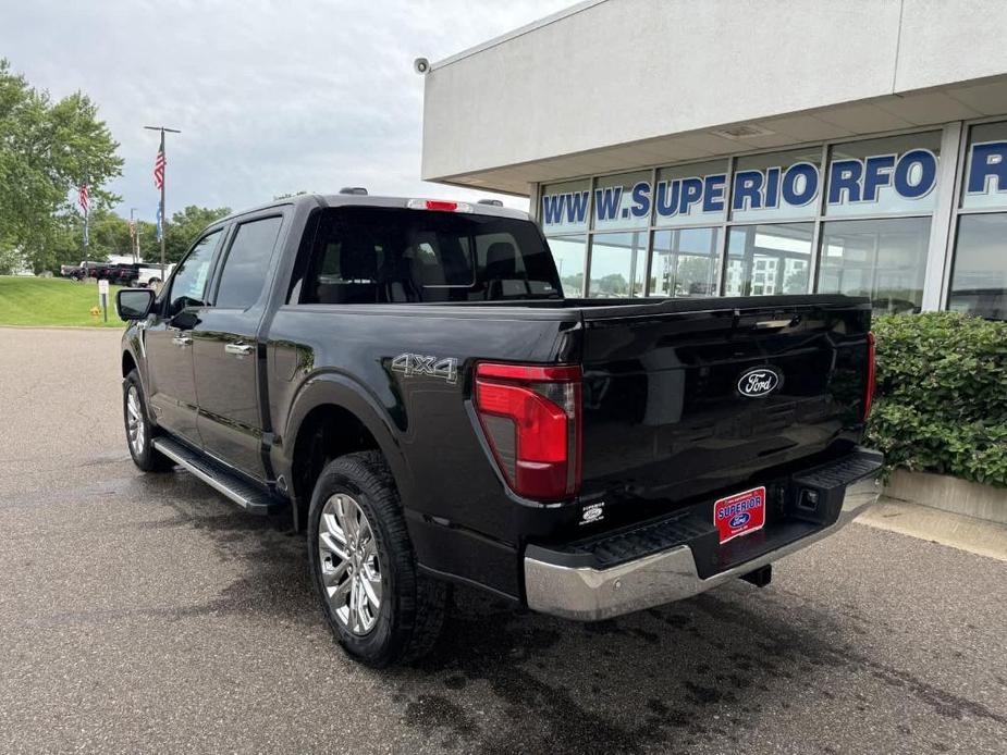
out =
{"type": "MultiPolygon", "coordinates": [[[[1005,25],[1003,0],[582,3],[434,65],[422,174],[446,178],[1003,74],[1007,47],[991,29],[1005,25]]],[[[913,97],[921,122],[935,122],[925,120],[926,94],[913,97]]]]}

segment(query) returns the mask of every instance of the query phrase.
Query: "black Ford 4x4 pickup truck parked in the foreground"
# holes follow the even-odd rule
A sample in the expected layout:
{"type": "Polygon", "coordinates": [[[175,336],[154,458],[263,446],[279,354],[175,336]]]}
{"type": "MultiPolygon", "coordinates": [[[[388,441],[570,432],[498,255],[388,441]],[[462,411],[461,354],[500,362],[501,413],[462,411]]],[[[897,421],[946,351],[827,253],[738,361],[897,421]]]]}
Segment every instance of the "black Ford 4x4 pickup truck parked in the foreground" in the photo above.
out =
{"type": "Polygon", "coordinates": [[[295,197],[118,306],[136,465],[288,507],[374,666],[429,648],[451,583],[605,619],[765,584],[877,495],[868,300],[565,298],[502,207],[295,197]]]}

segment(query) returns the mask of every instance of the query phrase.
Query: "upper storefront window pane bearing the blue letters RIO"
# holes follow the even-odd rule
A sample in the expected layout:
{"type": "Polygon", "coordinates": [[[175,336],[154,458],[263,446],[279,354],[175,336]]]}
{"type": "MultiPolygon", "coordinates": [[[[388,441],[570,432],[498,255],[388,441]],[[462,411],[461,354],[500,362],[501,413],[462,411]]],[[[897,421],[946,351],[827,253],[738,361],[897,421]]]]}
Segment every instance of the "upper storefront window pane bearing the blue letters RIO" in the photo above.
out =
{"type": "Polygon", "coordinates": [[[821,168],[821,146],[738,158],[730,219],[773,223],[814,218],[822,195],[821,168]]]}

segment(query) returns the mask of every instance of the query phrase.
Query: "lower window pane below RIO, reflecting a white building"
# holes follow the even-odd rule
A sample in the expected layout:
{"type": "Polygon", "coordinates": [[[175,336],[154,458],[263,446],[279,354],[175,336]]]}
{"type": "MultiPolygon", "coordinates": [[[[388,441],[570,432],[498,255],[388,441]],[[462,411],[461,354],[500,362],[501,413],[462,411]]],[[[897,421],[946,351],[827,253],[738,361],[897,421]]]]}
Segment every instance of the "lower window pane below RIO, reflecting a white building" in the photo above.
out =
{"type": "Polygon", "coordinates": [[[733,227],[725,296],[807,294],[812,228],[811,223],[733,227]]]}

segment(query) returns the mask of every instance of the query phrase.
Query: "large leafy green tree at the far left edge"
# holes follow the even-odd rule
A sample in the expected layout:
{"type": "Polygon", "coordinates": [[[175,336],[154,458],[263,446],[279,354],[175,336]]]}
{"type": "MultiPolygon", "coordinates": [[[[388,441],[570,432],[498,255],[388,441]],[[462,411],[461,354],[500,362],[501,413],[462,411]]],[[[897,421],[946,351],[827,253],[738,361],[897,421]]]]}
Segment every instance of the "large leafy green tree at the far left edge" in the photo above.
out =
{"type": "Polygon", "coordinates": [[[54,267],[76,188],[86,182],[96,203],[116,199],[103,186],[122,173],[118,148],[86,95],[53,101],[0,59],[0,248],[22,249],[36,272],[54,267]]]}

